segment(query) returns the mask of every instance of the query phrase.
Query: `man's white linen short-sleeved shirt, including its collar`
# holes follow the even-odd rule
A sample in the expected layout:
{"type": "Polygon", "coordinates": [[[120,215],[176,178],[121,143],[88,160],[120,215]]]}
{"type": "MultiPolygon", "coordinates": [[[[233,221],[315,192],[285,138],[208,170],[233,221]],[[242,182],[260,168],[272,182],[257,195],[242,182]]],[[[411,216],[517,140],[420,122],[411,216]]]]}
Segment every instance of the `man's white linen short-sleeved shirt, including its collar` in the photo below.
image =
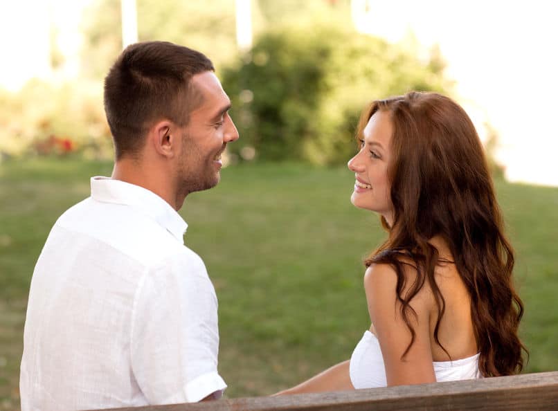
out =
{"type": "Polygon", "coordinates": [[[31,281],[22,411],[199,401],[217,374],[217,297],[187,224],[144,188],[91,179],[60,217],[31,281]]]}

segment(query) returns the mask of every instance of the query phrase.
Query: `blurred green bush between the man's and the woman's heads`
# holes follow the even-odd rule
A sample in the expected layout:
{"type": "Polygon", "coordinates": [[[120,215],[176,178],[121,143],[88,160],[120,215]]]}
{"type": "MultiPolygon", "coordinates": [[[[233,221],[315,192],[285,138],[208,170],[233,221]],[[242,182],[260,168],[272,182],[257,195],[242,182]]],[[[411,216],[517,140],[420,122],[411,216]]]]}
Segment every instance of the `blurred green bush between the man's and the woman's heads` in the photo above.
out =
{"type": "Polygon", "coordinates": [[[343,24],[284,25],[224,71],[240,144],[262,159],[343,163],[368,102],[410,90],[448,93],[439,53],[360,35],[343,24]]]}

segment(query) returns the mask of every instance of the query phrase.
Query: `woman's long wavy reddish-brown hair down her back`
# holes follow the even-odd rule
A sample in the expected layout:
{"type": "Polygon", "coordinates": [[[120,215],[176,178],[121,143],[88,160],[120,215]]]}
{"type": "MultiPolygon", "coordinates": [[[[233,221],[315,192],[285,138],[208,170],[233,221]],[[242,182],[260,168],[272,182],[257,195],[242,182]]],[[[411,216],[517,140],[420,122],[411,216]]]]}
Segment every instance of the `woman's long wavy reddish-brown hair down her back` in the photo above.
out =
{"type": "MultiPolygon", "coordinates": [[[[403,356],[415,341],[410,302],[425,282],[438,306],[434,329],[444,315],[445,302],[435,282],[441,264],[429,240],[446,241],[453,262],[471,298],[480,372],[501,376],[521,372],[522,350],[517,335],[523,304],[514,291],[514,253],[503,232],[503,219],[478,134],[467,113],[438,93],[411,92],[377,100],[359,122],[359,136],[376,111],[388,111],[393,122],[388,165],[393,224],[381,222],[389,237],[370,257],[370,264],[390,264],[397,273],[397,298],[411,331],[403,356]],[[417,277],[406,284],[404,265],[412,261],[417,277]]],[[[447,351],[446,351],[447,352],[447,351]]]]}

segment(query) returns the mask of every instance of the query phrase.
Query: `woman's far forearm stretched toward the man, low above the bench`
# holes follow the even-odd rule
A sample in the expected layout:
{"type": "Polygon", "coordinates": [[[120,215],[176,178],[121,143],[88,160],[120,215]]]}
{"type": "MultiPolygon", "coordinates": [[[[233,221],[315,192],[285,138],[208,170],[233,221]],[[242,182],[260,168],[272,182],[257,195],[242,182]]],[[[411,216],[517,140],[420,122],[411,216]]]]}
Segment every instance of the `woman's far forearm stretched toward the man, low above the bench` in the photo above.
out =
{"type": "Polygon", "coordinates": [[[327,392],[354,390],[349,376],[349,360],[343,361],[313,376],[296,387],[283,390],[275,395],[303,394],[305,392],[327,392]]]}

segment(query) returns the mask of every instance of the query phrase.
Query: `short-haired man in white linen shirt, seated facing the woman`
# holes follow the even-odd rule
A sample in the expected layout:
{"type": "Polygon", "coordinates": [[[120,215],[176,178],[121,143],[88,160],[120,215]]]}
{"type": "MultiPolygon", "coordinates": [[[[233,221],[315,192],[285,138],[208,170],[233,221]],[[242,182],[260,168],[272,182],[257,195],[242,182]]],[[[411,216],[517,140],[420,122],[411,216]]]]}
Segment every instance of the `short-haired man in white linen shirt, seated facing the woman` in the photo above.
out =
{"type": "Polygon", "coordinates": [[[129,46],[109,71],[114,171],[91,179],[91,197],[62,214],[35,266],[23,411],[192,402],[226,387],[215,290],[177,212],[219,182],[238,138],[213,71],[167,42],[129,46]]]}

